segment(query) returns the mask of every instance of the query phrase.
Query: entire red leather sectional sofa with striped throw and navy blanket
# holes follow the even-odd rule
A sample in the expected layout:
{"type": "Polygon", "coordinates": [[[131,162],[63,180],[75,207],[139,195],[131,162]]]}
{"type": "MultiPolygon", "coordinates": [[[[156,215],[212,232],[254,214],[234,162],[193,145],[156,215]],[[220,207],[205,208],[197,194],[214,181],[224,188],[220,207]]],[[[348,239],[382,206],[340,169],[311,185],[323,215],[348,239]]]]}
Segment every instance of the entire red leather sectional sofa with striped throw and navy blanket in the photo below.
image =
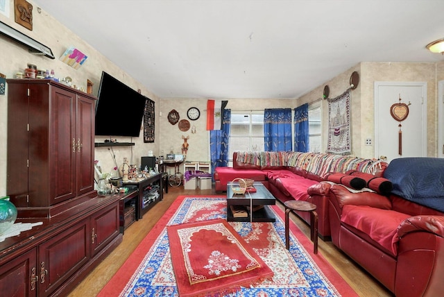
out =
{"type": "MultiPolygon", "coordinates": [[[[237,154],[233,168],[216,168],[216,190],[225,191],[226,183],[234,178],[252,178],[264,183],[280,201],[314,203],[319,235],[331,236],[335,246],[395,296],[443,295],[444,159],[395,159],[382,163],[376,175],[366,176],[359,171],[373,171],[370,160],[287,153],[287,166],[271,166],[273,162],[263,162],[269,157],[266,154],[259,161],[247,156],[248,162],[241,162],[237,154]],[[345,178],[332,172],[359,173],[356,176],[366,178],[373,191],[344,187],[345,178]],[[382,187],[386,184],[390,187],[382,187]]],[[[299,215],[309,223],[304,212],[299,215]]]]}

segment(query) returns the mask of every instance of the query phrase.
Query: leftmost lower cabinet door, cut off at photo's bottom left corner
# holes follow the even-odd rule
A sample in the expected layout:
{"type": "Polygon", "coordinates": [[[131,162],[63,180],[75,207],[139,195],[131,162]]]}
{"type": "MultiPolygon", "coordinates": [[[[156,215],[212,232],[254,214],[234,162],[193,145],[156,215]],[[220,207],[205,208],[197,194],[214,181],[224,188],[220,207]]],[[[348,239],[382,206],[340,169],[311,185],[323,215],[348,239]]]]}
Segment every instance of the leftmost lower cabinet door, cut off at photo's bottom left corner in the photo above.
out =
{"type": "Polygon", "coordinates": [[[35,248],[0,266],[1,296],[37,296],[35,248]]]}

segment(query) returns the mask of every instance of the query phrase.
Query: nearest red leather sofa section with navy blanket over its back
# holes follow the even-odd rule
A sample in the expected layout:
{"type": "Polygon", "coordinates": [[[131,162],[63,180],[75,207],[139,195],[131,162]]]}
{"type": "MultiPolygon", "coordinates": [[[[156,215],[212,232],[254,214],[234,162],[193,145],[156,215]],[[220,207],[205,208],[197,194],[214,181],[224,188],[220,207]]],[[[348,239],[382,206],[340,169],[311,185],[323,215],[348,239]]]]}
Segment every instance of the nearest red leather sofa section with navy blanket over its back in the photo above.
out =
{"type": "Polygon", "coordinates": [[[444,160],[395,159],[384,177],[388,196],[325,184],[332,242],[396,296],[443,296],[444,160]]]}

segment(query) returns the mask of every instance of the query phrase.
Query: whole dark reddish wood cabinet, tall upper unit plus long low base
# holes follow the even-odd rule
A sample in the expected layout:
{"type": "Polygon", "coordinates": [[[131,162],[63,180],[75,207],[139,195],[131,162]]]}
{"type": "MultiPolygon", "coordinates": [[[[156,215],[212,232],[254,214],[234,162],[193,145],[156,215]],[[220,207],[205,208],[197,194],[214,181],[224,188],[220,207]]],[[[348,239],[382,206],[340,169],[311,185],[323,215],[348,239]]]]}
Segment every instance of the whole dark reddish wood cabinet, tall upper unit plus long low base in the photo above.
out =
{"type": "Polygon", "coordinates": [[[31,230],[0,242],[1,296],[66,296],[121,243],[123,195],[94,190],[94,96],[8,80],[7,194],[31,230]]]}

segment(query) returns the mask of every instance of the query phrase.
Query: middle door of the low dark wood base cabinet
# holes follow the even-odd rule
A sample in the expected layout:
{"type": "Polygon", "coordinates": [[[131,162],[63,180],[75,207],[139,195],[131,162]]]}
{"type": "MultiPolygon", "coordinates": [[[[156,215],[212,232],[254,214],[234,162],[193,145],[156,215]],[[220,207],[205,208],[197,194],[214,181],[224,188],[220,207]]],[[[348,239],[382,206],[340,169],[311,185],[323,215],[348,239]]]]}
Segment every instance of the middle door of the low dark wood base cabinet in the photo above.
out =
{"type": "Polygon", "coordinates": [[[39,246],[39,295],[49,296],[90,259],[89,219],[58,233],[39,246]]]}

